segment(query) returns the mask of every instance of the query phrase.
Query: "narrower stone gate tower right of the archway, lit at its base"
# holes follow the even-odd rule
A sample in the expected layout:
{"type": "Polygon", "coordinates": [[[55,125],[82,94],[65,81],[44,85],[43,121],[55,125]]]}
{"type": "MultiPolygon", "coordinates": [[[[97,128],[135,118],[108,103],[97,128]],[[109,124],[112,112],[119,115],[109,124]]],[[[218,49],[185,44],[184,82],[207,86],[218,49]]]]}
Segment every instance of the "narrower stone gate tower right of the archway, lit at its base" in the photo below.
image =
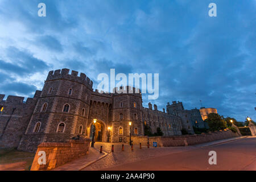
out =
{"type": "Polygon", "coordinates": [[[126,93],[113,94],[113,142],[129,142],[130,129],[132,136],[144,135],[141,90],[131,86],[125,90],[126,93]]]}

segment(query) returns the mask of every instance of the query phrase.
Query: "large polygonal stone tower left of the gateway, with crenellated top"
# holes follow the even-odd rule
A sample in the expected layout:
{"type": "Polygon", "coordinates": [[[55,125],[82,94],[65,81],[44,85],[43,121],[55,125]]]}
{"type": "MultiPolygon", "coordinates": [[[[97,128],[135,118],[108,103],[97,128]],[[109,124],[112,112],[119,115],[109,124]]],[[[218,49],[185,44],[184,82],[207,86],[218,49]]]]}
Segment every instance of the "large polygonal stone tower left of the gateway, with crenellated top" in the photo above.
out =
{"type": "Polygon", "coordinates": [[[18,149],[34,151],[41,142],[85,135],[92,85],[84,73],[50,71],[18,149]]]}

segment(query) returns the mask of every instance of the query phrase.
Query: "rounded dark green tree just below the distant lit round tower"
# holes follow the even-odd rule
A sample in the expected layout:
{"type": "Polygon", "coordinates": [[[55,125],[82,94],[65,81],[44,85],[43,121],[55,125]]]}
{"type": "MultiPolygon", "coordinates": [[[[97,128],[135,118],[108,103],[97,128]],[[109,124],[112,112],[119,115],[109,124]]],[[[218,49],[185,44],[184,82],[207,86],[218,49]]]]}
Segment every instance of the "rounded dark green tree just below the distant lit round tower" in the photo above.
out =
{"type": "Polygon", "coordinates": [[[226,129],[226,121],[217,113],[210,113],[207,115],[205,122],[208,123],[210,131],[224,130],[226,129]]]}

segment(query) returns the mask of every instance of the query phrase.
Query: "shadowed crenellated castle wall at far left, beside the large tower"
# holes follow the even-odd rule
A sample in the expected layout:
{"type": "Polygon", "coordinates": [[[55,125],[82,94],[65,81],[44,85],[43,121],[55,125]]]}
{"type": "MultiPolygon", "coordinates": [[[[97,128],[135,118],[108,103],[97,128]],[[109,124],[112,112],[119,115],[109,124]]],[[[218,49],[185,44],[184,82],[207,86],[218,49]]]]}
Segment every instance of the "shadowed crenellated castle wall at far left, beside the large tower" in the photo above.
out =
{"type": "Polygon", "coordinates": [[[40,93],[37,90],[34,98],[27,98],[26,102],[23,102],[24,97],[8,96],[3,100],[5,95],[1,95],[3,111],[0,114],[0,147],[18,147],[40,93]]]}

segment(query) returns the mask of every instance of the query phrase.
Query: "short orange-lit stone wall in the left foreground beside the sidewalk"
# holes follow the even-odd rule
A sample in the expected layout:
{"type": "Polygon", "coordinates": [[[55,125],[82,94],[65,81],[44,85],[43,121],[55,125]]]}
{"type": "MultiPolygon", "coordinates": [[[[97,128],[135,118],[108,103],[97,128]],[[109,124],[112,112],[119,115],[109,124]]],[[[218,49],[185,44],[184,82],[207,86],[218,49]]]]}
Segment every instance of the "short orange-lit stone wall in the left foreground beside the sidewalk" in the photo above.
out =
{"type": "Polygon", "coordinates": [[[86,155],[90,139],[69,140],[67,143],[41,143],[36,151],[31,171],[51,170],[86,155]],[[46,164],[39,165],[39,151],[46,152],[46,164]]]}

